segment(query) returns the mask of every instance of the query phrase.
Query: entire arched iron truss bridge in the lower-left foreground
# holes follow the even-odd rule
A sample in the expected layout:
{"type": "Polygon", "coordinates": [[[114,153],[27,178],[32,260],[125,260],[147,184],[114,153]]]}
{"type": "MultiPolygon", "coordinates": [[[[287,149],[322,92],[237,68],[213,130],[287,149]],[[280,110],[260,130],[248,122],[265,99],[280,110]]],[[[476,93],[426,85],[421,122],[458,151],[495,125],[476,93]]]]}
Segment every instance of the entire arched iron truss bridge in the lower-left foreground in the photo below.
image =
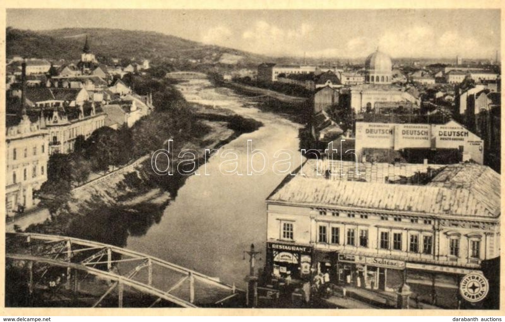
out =
{"type": "Polygon", "coordinates": [[[7,306],[226,307],[240,306],[244,296],[156,257],[53,235],[8,233],[6,274],[7,306]],[[23,291],[28,302],[13,304],[23,291]]]}

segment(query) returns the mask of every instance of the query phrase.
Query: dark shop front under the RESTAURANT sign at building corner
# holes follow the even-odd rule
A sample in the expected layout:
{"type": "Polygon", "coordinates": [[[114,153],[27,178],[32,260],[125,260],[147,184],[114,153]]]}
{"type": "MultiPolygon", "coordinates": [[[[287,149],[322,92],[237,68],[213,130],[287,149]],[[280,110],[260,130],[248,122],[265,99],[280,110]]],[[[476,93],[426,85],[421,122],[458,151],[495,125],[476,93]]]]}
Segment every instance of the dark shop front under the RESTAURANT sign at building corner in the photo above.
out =
{"type": "Polygon", "coordinates": [[[310,246],[267,243],[269,272],[278,278],[310,278],[312,253],[310,246]]]}

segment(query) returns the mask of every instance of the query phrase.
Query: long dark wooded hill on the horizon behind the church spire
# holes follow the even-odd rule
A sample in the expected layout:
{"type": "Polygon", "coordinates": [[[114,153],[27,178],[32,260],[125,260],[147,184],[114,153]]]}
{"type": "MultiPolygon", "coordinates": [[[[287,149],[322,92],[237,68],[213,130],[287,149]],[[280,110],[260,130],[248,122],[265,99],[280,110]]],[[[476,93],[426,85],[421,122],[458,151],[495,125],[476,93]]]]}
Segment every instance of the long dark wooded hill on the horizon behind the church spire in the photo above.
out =
{"type": "Polygon", "coordinates": [[[124,64],[142,59],[149,59],[154,63],[191,60],[200,64],[245,67],[271,60],[262,55],[207,45],[159,32],[107,28],[32,31],[8,27],[7,57],[74,61],[80,57],[86,35],[91,51],[105,64],[111,64],[112,58],[119,58],[124,64]]]}

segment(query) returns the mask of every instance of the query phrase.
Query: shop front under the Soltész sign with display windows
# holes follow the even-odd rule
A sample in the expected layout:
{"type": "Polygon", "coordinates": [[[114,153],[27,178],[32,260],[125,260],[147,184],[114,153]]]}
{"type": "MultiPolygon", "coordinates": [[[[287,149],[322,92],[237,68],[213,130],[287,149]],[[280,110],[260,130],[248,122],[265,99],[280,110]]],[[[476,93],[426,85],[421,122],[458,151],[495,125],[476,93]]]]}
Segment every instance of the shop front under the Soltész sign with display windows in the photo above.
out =
{"type": "Polygon", "coordinates": [[[355,254],[338,254],[339,284],[394,291],[403,283],[405,261],[355,254]]]}

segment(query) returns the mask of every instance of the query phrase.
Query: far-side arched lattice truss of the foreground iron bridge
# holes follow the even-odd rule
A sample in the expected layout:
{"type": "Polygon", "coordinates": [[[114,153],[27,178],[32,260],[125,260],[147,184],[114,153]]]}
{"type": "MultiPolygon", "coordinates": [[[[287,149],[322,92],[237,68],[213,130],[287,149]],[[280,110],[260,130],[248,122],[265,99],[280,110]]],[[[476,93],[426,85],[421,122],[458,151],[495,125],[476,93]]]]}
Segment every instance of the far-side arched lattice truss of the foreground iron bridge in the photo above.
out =
{"type": "Polygon", "coordinates": [[[158,300],[151,306],[161,300],[183,307],[219,304],[244,292],[234,285],[157,257],[71,237],[8,233],[6,258],[43,263],[38,272],[45,269],[44,274],[49,266],[67,267],[68,281],[71,269],[76,269],[114,282],[94,306],[114,288],[122,292],[123,286],[157,296],[158,300]]]}

